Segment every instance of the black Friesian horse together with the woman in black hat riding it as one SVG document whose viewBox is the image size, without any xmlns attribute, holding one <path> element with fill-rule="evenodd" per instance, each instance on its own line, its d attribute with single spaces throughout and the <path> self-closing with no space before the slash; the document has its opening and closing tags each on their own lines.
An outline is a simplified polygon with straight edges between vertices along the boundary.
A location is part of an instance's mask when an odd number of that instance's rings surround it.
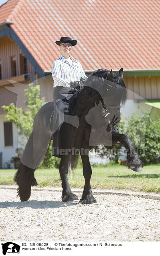
<svg viewBox="0 0 160 256">
<path fill-rule="evenodd" d="M 18 184 L 21 201 L 30 198 L 31 186 L 36 186 L 35 169 L 41 164 L 53 139 L 53 155 L 60 157 L 59 173 L 62 180 L 63 202 L 77 200 L 67 179 L 69 166 L 74 167 L 77 151 L 83 163 L 85 186 L 79 202 L 96 202 L 91 191 L 91 165 L 89 151 L 99 143 L 106 146 L 122 143 L 127 150 L 128 168 L 141 171 L 143 163 L 125 134 L 119 134 L 115 125 L 120 122 L 120 107 L 126 101 L 126 86 L 123 69 L 116 75 L 112 70 L 95 70 L 87 79 L 81 64 L 70 56 L 71 47 L 77 44 L 70 37 L 61 37 L 56 41 L 60 46 L 61 57 L 53 62 L 54 103 L 43 105 L 34 118 L 33 131 L 30 134 L 20 167 L 14 176 Z M 82 78 L 83 87 L 72 87 L 73 81 Z M 54 114 L 53 114 L 54 112 Z M 51 117 L 53 116 L 53 132 Z M 71 125 L 70 125 L 71 124 Z M 61 149 L 58 151 L 57 149 Z M 75 151 L 72 154 L 72 149 Z M 67 150 L 67 151 L 65 151 Z M 67 154 L 68 152 L 69 154 Z M 79 154 L 78 154 L 79 155 Z"/>
</svg>

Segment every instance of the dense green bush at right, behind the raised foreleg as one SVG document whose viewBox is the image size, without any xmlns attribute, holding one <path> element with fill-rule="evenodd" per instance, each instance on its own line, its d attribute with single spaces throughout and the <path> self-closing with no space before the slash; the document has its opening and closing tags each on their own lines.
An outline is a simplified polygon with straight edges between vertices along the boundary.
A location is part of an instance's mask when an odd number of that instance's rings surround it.
<svg viewBox="0 0 160 256">
<path fill-rule="evenodd" d="M 160 157 L 160 116 L 142 109 L 142 116 L 135 112 L 130 118 L 123 117 L 119 129 L 128 135 L 144 164 Z"/>
</svg>

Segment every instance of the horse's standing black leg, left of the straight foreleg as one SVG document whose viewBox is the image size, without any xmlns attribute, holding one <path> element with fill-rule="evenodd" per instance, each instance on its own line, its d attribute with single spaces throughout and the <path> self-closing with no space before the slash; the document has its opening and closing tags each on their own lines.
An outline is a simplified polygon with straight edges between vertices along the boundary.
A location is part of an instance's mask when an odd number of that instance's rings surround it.
<svg viewBox="0 0 160 256">
<path fill-rule="evenodd" d="M 73 201 L 78 200 L 77 196 L 72 193 L 71 188 L 69 186 L 67 174 L 68 174 L 68 161 L 66 161 L 63 157 L 61 157 L 61 162 L 59 165 L 59 173 L 62 180 L 62 201 Z"/>
</svg>

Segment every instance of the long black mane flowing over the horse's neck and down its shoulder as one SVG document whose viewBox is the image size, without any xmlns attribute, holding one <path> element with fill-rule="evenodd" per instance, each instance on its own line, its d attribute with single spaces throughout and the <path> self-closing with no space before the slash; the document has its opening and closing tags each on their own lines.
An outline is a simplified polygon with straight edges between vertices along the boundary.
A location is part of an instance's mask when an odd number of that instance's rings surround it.
<svg viewBox="0 0 160 256">
<path fill-rule="evenodd" d="M 95 70 L 88 77 L 81 90 L 73 95 L 73 102 L 74 100 L 76 102 L 74 112 L 81 121 L 81 127 L 79 129 L 73 127 L 73 131 L 72 129 L 70 131 L 71 138 L 69 138 L 69 141 L 73 142 L 72 147 L 76 147 L 77 149 L 81 147 L 80 143 L 86 126 L 86 109 L 88 109 L 89 105 L 92 108 L 95 103 L 98 104 L 104 91 L 106 93 L 104 95 L 106 99 L 112 98 L 112 105 L 116 105 L 117 102 L 121 102 L 121 104 L 124 105 L 126 102 L 127 92 L 123 78 L 103 68 Z M 71 157 L 72 166 L 75 165 L 76 159 L 77 156 Z"/>
</svg>

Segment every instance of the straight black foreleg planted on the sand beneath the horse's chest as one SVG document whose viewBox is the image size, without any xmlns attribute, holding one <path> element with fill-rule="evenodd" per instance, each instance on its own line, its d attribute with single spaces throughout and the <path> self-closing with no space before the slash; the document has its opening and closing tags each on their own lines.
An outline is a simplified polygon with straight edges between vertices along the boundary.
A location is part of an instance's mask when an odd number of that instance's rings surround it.
<svg viewBox="0 0 160 256">
<path fill-rule="evenodd" d="M 89 156 L 88 155 L 81 155 L 82 163 L 83 163 L 83 176 L 85 178 L 85 186 L 82 194 L 82 198 L 79 202 L 82 204 L 92 204 L 93 202 L 96 202 L 96 199 L 94 198 L 91 190 L 91 175 L 92 175 L 92 169 L 89 162 Z"/>
</svg>

